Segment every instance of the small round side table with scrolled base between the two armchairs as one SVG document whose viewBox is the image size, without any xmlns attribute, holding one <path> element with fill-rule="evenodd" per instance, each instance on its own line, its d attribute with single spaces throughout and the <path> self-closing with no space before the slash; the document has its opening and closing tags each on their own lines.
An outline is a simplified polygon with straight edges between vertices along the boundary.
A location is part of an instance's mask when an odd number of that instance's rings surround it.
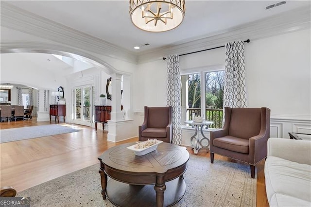
<svg viewBox="0 0 311 207">
<path fill-rule="evenodd" d="M 202 122 L 195 122 L 195 121 L 185 121 L 185 123 L 195 128 L 195 133 L 191 137 L 191 147 L 193 148 L 194 155 L 197 155 L 199 150 L 202 148 L 208 149 L 209 146 L 209 138 L 205 137 L 203 133 L 203 128 L 206 129 L 210 124 L 213 124 L 213 121 L 202 121 Z M 202 138 L 200 138 L 199 132 L 201 132 Z M 204 144 L 204 142 L 207 142 Z"/>
</svg>

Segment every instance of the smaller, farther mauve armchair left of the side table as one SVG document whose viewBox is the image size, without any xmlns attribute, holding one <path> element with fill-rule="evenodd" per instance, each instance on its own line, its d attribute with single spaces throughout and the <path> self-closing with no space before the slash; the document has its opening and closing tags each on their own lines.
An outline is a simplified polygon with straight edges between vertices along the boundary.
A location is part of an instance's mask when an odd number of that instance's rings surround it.
<svg viewBox="0 0 311 207">
<path fill-rule="evenodd" d="M 146 141 L 158 139 L 171 143 L 173 137 L 172 106 L 148 107 L 145 106 L 145 118 L 138 126 L 138 140 Z"/>
</svg>

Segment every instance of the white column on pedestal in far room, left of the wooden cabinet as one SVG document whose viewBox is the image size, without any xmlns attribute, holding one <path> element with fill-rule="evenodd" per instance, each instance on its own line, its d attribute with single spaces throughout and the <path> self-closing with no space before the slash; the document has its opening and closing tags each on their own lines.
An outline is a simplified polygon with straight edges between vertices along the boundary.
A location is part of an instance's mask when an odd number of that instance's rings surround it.
<svg viewBox="0 0 311 207">
<path fill-rule="evenodd" d="M 49 90 L 38 90 L 38 112 L 37 121 L 50 120 L 50 106 L 49 106 Z"/>
</svg>

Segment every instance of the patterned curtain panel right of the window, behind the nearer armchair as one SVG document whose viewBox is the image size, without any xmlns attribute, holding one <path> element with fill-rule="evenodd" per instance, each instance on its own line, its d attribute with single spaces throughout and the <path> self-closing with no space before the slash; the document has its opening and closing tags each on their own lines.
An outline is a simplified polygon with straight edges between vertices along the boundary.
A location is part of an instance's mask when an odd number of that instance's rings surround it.
<svg viewBox="0 0 311 207">
<path fill-rule="evenodd" d="M 225 45 L 224 108 L 247 107 L 244 59 L 243 41 Z"/>
</svg>

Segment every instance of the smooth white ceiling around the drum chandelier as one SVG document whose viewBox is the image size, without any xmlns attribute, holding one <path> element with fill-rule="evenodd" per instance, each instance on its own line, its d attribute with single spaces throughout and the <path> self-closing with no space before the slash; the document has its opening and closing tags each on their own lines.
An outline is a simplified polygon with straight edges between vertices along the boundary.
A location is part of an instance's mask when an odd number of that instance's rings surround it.
<svg viewBox="0 0 311 207">
<path fill-rule="evenodd" d="M 186 0 L 184 21 L 179 27 L 164 33 L 150 33 L 132 24 L 129 0 L 6 1 L 136 53 L 208 37 L 232 27 L 311 5 L 311 1 L 287 1 L 284 5 L 265 10 L 265 6 L 276 2 L 279 1 Z M 133 48 L 145 43 L 150 46 L 142 47 L 139 51 Z"/>
</svg>

